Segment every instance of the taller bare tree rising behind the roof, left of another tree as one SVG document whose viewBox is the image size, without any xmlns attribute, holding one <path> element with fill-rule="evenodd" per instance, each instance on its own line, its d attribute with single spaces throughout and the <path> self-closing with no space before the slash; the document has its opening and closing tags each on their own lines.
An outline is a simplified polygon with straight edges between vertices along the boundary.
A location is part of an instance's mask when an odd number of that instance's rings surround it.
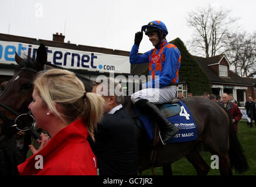
<svg viewBox="0 0 256 187">
<path fill-rule="evenodd" d="M 216 56 L 225 49 L 227 34 L 230 33 L 236 19 L 229 17 L 230 11 L 218 11 L 209 7 L 188 13 L 187 23 L 194 28 L 193 39 L 189 41 L 190 50 L 207 57 Z"/>
</svg>

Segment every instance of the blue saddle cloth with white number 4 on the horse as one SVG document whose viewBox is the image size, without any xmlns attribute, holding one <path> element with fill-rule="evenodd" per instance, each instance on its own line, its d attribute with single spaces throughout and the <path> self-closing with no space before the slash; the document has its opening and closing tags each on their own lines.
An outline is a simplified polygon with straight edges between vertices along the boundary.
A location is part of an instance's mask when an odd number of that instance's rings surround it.
<svg viewBox="0 0 256 187">
<path fill-rule="evenodd" d="M 156 105 L 159 110 L 165 115 L 169 122 L 175 124 L 179 129 L 179 132 L 168 142 L 185 142 L 197 140 L 197 127 L 194 122 L 193 116 L 189 109 L 182 101 L 177 101 L 176 103 L 165 103 L 161 105 Z M 138 116 L 141 126 L 144 127 L 146 133 L 150 140 L 154 138 L 155 124 L 146 115 L 139 115 L 141 112 L 135 106 L 135 114 Z M 135 120 L 138 126 L 138 121 Z"/>
</svg>

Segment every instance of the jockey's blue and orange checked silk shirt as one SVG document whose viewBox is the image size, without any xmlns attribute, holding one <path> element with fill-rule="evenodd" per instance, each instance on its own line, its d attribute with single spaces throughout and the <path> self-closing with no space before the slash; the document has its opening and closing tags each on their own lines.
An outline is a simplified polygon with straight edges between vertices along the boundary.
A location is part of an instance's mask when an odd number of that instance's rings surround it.
<svg viewBox="0 0 256 187">
<path fill-rule="evenodd" d="M 179 82 L 180 51 L 178 47 L 164 40 L 155 49 L 144 54 L 138 54 L 139 46 L 132 46 L 129 60 L 131 64 L 149 63 L 149 75 L 151 81 L 146 82 L 146 88 L 155 88 L 155 82 L 159 82 L 159 88 L 170 83 Z M 158 77 L 155 76 L 158 75 Z"/>
</svg>

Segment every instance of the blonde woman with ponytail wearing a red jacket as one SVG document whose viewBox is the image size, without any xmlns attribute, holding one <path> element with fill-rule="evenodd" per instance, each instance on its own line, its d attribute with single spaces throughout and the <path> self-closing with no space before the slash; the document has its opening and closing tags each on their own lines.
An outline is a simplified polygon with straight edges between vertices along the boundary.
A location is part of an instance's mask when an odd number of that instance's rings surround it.
<svg viewBox="0 0 256 187">
<path fill-rule="evenodd" d="M 29 109 L 41 134 L 38 150 L 18 165 L 20 175 L 97 175 L 97 162 L 87 141 L 103 114 L 104 99 L 86 93 L 73 72 L 53 69 L 37 75 Z"/>
</svg>

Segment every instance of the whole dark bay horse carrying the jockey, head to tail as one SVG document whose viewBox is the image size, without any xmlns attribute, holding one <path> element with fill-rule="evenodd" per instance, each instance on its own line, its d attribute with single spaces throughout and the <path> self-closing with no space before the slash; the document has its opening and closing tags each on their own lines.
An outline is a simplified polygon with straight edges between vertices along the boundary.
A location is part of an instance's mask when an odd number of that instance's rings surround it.
<svg viewBox="0 0 256 187">
<path fill-rule="evenodd" d="M 8 118 L 15 117 L 17 113 L 28 112 L 28 105 L 33 91 L 32 81 L 37 72 L 43 70 L 43 66 L 47 61 L 47 51 L 45 46 L 41 44 L 37 49 L 36 61 L 24 61 L 17 54 L 15 59 L 19 64 L 18 70 L 5 86 L 5 90 L 0 96 L 0 103 L 11 109 L 0 107 L 0 112 L 4 113 Z M 86 85 L 86 91 L 90 92 L 94 85 L 93 81 L 87 80 L 83 82 Z M 183 99 L 183 102 L 189 108 L 197 124 L 199 140 L 158 146 L 158 154 L 153 167 L 168 167 L 168 165 L 185 156 L 193 164 L 197 174 L 206 175 L 209 172 L 209 166 L 197 151 L 197 143 L 203 141 L 210 153 L 219 157 L 221 175 L 231 175 L 232 167 L 238 172 L 246 171 L 248 164 L 227 113 L 217 103 L 211 102 L 210 99 L 193 97 Z M 129 97 L 126 98 L 125 106 L 133 115 L 134 108 Z M 2 129 L 3 123 L 4 120 L 1 120 L 0 129 Z M 6 126 L 6 124 L 4 125 Z M 136 133 L 139 144 L 139 171 L 142 171 L 151 167 L 150 155 L 152 146 L 145 130 L 137 129 Z M 3 133 L 0 133 L 0 136 L 2 135 Z"/>
</svg>

